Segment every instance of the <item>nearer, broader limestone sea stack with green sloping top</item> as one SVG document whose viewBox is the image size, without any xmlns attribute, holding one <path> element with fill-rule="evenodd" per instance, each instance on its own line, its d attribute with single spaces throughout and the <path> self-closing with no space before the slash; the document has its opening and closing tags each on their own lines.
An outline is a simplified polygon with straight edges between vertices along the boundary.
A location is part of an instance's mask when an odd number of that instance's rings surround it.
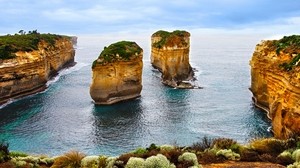
<svg viewBox="0 0 300 168">
<path fill-rule="evenodd" d="M 113 104 L 140 96 L 143 50 L 135 42 L 104 47 L 92 66 L 90 94 L 95 104 Z"/>
</svg>

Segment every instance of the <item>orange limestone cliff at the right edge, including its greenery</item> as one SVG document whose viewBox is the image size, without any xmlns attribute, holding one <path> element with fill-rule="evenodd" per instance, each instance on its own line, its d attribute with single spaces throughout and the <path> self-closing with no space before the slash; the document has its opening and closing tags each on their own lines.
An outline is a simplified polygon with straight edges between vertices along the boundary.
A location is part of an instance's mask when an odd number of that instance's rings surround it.
<svg viewBox="0 0 300 168">
<path fill-rule="evenodd" d="M 258 107 L 268 112 L 274 136 L 300 135 L 300 36 L 262 41 L 251 65 L 251 91 Z"/>
</svg>

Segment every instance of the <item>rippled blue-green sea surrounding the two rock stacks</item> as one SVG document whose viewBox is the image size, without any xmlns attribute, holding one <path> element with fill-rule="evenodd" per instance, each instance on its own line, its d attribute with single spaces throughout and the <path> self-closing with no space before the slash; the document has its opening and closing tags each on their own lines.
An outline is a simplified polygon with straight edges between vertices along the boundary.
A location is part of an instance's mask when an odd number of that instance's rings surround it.
<svg viewBox="0 0 300 168">
<path fill-rule="evenodd" d="M 79 36 L 74 67 L 48 89 L 0 107 L 0 140 L 10 150 L 50 156 L 79 150 L 116 156 L 155 144 L 191 145 L 202 137 L 247 143 L 269 137 L 266 114 L 251 100 L 249 60 L 261 40 L 253 35 L 193 35 L 190 63 L 203 89 L 161 84 L 150 64 L 150 36 Z M 104 46 L 136 41 L 144 49 L 141 97 L 97 106 L 89 95 L 91 64 Z"/>
</svg>

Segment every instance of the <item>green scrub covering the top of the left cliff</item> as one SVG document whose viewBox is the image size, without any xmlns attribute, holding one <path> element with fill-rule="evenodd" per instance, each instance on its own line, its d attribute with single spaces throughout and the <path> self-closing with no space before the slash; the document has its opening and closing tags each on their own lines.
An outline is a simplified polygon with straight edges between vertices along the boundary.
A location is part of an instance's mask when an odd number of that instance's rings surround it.
<svg viewBox="0 0 300 168">
<path fill-rule="evenodd" d="M 18 51 L 33 51 L 38 49 L 38 44 L 44 41 L 51 46 L 55 45 L 55 41 L 60 39 L 61 35 L 56 34 L 40 34 L 37 30 L 29 31 L 23 30 L 19 34 L 0 36 L 0 59 L 11 59 L 15 57 Z"/>
</svg>

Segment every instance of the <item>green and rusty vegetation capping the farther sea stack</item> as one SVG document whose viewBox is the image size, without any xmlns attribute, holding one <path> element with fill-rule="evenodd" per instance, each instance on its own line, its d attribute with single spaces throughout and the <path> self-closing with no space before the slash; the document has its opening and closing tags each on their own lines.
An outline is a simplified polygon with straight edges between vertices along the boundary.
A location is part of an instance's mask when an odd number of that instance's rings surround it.
<svg viewBox="0 0 300 168">
<path fill-rule="evenodd" d="M 184 37 L 190 37 L 190 33 L 183 30 L 175 30 L 173 32 L 167 32 L 159 30 L 155 32 L 152 37 L 161 37 L 160 41 L 152 44 L 155 48 L 162 48 L 163 46 L 185 46 L 187 45 Z"/>
</svg>

